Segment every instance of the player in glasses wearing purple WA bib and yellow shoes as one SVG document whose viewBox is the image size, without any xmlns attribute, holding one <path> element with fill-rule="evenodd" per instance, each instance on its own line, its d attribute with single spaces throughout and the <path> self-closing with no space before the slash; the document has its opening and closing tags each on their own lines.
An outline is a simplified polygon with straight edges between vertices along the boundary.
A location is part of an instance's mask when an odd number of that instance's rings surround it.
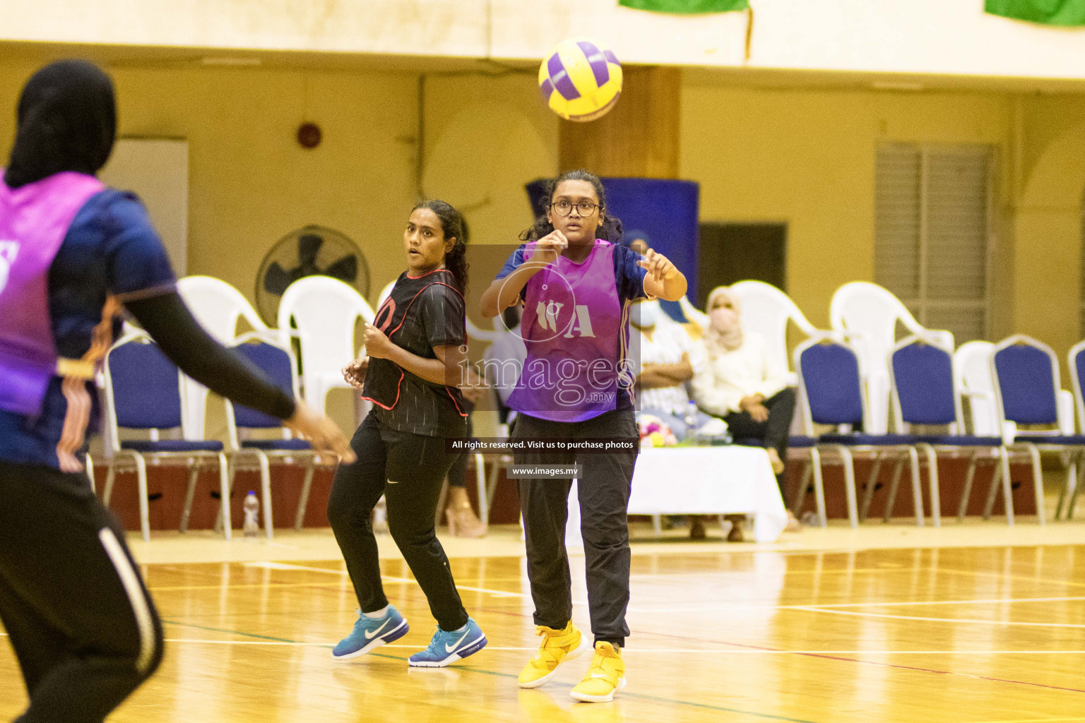
<svg viewBox="0 0 1085 723">
<path fill-rule="evenodd" d="M 634 440 L 608 453 L 518 452 L 518 465 L 577 464 L 580 530 L 595 656 L 571 692 L 576 700 L 612 700 L 625 687 L 622 647 L 629 634 L 629 528 L 626 514 L 637 461 L 633 376 L 623 373 L 634 299 L 677 300 L 686 277 L 652 250 L 641 256 L 617 243 L 621 222 L 605 212 L 603 184 L 574 170 L 547 189 L 547 214 L 521 234 L 520 246 L 482 297 L 494 318 L 523 302 L 520 333 L 527 347 L 523 373 L 508 405 L 516 411 L 513 440 L 591 438 Z M 575 211 L 575 212 L 574 212 Z M 550 370 L 549 379 L 546 377 Z M 519 684 L 538 687 L 558 666 L 591 647 L 573 624 L 565 522 L 572 478 L 520 479 L 527 576 L 542 644 Z"/>
</svg>

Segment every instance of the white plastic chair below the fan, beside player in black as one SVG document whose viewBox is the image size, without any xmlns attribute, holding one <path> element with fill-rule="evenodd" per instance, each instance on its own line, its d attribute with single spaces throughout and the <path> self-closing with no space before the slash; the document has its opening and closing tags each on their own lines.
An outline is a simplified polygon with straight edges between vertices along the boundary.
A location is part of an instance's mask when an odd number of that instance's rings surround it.
<svg viewBox="0 0 1085 723">
<path fill-rule="evenodd" d="M 352 388 L 341 370 L 355 359 L 358 318 L 372 323 L 373 315 L 361 294 L 331 276 L 298 279 L 283 293 L 279 333 L 288 346 L 292 336 L 301 343 L 305 401 L 314 409 L 324 410 L 329 390 Z"/>
</svg>

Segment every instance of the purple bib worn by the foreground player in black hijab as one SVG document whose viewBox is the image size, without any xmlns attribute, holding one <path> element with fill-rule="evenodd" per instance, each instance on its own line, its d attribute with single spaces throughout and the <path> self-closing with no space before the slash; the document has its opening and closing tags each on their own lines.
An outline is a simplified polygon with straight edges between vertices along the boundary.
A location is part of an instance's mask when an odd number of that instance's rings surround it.
<svg viewBox="0 0 1085 723">
<path fill-rule="evenodd" d="M 75 215 L 104 188 L 73 171 L 18 189 L 0 183 L 0 409 L 41 413 L 58 361 L 49 268 Z"/>
</svg>

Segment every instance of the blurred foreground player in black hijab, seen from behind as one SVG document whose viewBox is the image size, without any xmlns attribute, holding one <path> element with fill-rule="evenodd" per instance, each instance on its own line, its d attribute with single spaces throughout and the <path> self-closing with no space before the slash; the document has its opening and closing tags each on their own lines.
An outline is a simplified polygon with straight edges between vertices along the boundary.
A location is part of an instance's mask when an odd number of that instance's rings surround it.
<svg viewBox="0 0 1085 723">
<path fill-rule="evenodd" d="M 81 461 L 118 305 L 192 378 L 353 459 L 330 419 L 189 313 L 142 205 L 94 178 L 115 129 L 107 75 L 47 65 L 23 88 L 0 183 L 0 619 L 30 699 L 21 723 L 99 723 L 162 659 L 154 604 Z"/>
</svg>

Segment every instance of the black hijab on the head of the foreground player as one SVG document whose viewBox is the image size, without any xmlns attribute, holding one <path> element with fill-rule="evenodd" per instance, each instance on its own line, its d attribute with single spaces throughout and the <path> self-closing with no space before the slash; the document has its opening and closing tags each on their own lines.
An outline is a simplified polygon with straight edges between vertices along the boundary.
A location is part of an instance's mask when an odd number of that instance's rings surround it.
<svg viewBox="0 0 1085 723">
<path fill-rule="evenodd" d="M 113 81 L 87 61 L 58 61 L 26 81 L 4 172 L 13 189 L 65 170 L 93 176 L 113 151 Z"/>
</svg>

